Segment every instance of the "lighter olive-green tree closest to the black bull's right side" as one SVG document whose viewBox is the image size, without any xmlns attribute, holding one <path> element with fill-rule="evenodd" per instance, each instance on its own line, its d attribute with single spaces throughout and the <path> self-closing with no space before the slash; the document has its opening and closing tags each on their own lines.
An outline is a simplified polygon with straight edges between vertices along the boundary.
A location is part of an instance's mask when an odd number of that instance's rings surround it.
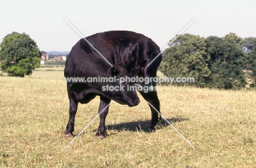
<svg viewBox="0 0 256 168">
<path fill-rule="evenodd" d="M 162 55 L 160 71 L 164 75 L 194 77 L 194 85 L 200 87 L 206 85 L 211 71 L 207 65 L 205 38 L 191 34 L 179 35 Z"/>
</svg>

